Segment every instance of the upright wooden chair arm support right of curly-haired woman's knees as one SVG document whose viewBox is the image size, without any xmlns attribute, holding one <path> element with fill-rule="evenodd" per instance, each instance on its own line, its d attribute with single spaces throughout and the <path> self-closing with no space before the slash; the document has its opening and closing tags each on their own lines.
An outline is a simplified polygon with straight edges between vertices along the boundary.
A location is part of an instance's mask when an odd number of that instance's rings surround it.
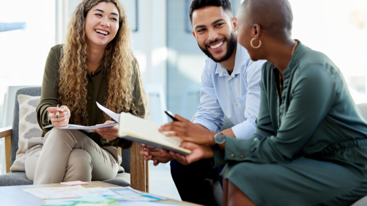
<svg viewBox="0 0 367 206">
<path fill-rule="evenodd" d="M 141 149 L 137 142 L 130 147 L 130 185 L 136 190 L 148 192 L 148 161 L 140 155 Z"/>
</svg>

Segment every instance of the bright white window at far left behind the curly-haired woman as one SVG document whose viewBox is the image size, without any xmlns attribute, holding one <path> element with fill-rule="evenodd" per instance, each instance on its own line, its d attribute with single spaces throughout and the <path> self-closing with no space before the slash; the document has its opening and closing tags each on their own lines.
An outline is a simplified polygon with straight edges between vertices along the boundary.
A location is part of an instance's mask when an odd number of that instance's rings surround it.
<svg viewBox="0 0 367 206">
<path fill-rule="evenodd" d="M 55 1 L 0 0 L 0 8 L 0 126 L 5 126 L 8 86 L 42 84 L 48 51 L 55 45 Z M 5 173 L 1 144 L 0 174 Z"/>
</svg>

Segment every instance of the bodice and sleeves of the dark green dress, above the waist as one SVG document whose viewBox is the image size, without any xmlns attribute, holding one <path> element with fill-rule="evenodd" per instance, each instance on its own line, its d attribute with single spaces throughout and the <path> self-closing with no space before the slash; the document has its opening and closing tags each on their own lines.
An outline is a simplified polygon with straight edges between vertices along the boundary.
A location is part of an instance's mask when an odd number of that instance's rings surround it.
<svg viewBox="0 0 367 206">
<path fill-rule="evenodd" d="M 284 70 L 263 65 L 257 129 L 249 139 L 226 137 L 216 166 L 228 162 L 285 163 L 304 156 L 345 164 L 366 163 L 367 123 L 343 75 L 324 54 L 299 43 Z"/>
</svg>

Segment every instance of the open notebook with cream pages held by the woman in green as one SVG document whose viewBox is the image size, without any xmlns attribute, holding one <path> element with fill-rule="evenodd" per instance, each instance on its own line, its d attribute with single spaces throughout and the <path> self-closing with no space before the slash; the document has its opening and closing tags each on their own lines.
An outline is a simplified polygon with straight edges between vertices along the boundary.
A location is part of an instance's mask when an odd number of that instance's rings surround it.
<svg viewBox="0 0 367 206">
<path fill-rule="evenodd" d="M 191 153 L 190 150 L 179 147 L 181 144 L 180 138 L 166 137 L 158 131 L 159 127 L 159 124 L 123 112 L 120 114 L 118 137 L 156 148 L 175 151 L 182 155 Z"/>
</svg>

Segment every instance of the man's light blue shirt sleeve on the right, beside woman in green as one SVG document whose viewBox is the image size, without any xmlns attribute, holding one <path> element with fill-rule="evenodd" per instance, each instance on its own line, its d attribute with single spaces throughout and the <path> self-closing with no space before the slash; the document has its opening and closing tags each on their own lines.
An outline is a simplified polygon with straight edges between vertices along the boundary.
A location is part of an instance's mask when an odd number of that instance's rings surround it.
<svg viewBox="0 0 367 206">
<path fill-rule="evenodd" d="M 256 118 L 259 111 L 260 102 L 260 79 L 261 65 L 264 61 L 252 62 L 246 69 L 244 78 L 247 82 L 245 101 L 245 121 L 234 125 L 232 131 L 236 138 L 248 139 L 256 129 Z"/>
</svg>

